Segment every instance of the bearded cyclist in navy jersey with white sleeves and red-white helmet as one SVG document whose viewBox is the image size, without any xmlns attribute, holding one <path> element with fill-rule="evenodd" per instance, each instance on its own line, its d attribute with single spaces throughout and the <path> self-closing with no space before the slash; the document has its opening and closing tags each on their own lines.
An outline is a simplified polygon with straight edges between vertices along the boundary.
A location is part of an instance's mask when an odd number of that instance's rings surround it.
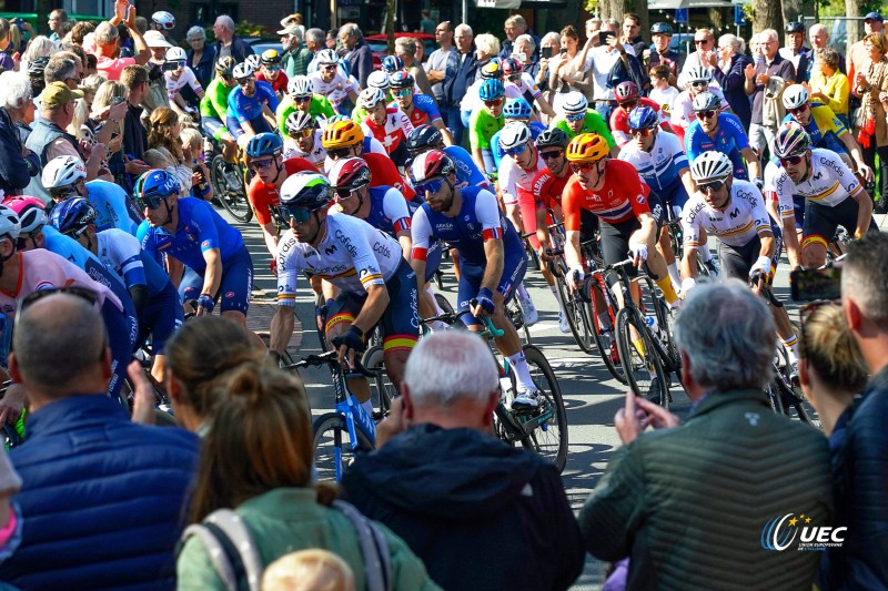
<svg viewBox="0 0 888 591">
<path fill-rule="evenodd" d="M 411 174 L 425 198 L 413 214 L 412 264 L 416 276 L 425 277 L 425 258 L 432 238 L 460 249 L 457 310 L 471 306 L 472 314 L 462 318 L 472 330 L 481 330 L 478 319 L 483 316 L 504 330 L 496 346 L 517 378 L 512 409 L 533 410 L 538 406 L 538 389 L 531 377 L 515 326 L 505 315 L 505 304 L 527 268 L 521 237 L 503 216 L 493 193 L 477 186 L 456 186 L 455 166 L 443 152 L 432 150 L 417 156 L 411 164 Z M 472 305 L 472 300 L 476 304 Z"/>
</svg>

